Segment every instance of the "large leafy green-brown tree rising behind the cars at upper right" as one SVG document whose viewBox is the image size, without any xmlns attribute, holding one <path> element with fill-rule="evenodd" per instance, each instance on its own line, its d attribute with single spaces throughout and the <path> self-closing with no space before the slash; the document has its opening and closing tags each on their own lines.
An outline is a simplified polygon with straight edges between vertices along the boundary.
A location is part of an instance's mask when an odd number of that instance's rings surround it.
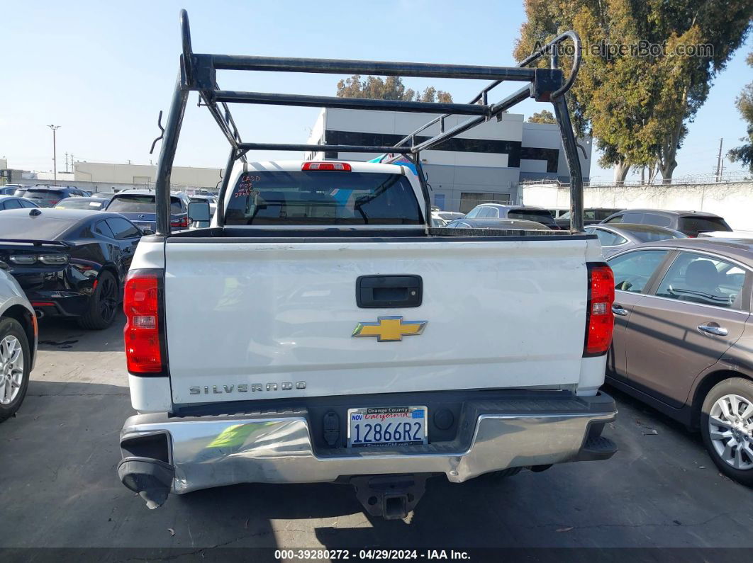
<svg viewBox="0 0 753 563">
<path fill-rule="evenodd" d="M 578 133 L 596 138 L 600 164 L 614 165 L 621 182 L 631 166 L 657 162 L 669 182 L 687 123 L 751 29 L 753 0 L 526 0 L 526 14 L 518 60 L 566 29 L 581 35 L 569 101 Z M 560 61 L 568 68 L 572 56 Z"/>
</svg>

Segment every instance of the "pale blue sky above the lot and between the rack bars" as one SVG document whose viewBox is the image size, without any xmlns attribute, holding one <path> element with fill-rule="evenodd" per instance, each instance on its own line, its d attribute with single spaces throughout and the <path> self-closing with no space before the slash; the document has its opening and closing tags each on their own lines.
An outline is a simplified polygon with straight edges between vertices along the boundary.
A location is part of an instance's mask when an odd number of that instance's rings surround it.
<svg viewBox="0 0 753 563">
<path fill-rule="evenodd" d="M 5 5 L 5 6 L 2 6 Z M 52 171 L 56 132 L 58 170 L 66 153 L 89 162 L 157 162 L 157 114 L 167 110 L 181 39 L 178 11 L 191 19 L 195 53 L 376 59 L 470 65 L 514 65 L 512 51 L 522 2 L 489 2 L 483 12 L 468 2 L 382 0 L 382 2 L 11 2 L 0 0 L 0 159 L 11 168 Z M 745 65 L 753 38 L 715 80 L 678 153 L 675 178 L 715 171 L 719 139 L 724 152 L 745 135 L 734 101 L 753 69 Z M 334 95 L 341 76 L 331 74 L 220 71 L 223 89 Z M 436 86 L 465 102 L 483 86 L 478 80 L 405 78 L 406 86 Z M 519 84 L 495 89 L 497 101 Z M 512 110 L 528 117 L 542 104 L 526 101 Z M 549 104 L 544 107 L 550 109 Z M 248 142 L 305 143 L 317 108 L 236 106 Z M 163 122 L 164 123 L 164 122 Z M 206 108 L 189 98 L 175 165 L 221 168 L 227 141 Z M 258 160 L 284 153 L 258 153 Z M 289 154 L 288 154 L 289 157 Z M 598 155 L 596 155 L 598 158 Z M 591 163 L 592 180 L 611 170 Z M 742 166 L 725 159 L 725 171 Z"/>
</svg>

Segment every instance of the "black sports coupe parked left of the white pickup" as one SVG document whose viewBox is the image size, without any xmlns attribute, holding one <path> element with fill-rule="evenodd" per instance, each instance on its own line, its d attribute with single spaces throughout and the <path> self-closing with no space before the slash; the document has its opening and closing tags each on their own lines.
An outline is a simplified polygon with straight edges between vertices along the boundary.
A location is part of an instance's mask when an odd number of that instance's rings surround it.
<svg viewBox="0 0 753 563">
<path fill-rule="evenodd" d="M 37 316 L 67 316 L 107 328 L 142 232 L 117 213 L 14 209 L 0 220 L 0 266 L 16 278 Z"/>
</svg>

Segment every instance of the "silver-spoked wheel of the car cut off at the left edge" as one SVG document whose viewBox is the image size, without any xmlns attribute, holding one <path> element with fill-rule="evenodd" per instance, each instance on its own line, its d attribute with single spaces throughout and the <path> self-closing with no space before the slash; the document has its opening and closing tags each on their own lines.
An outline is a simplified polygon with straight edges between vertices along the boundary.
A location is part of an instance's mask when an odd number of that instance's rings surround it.
<svg viewBox="0 0 753 563">
<path fill-rule="evenodd" d="M 32 355 L 16 319 L 0 319 L 0 422 L 13 416 L 26 396 Z"/>
</svg>

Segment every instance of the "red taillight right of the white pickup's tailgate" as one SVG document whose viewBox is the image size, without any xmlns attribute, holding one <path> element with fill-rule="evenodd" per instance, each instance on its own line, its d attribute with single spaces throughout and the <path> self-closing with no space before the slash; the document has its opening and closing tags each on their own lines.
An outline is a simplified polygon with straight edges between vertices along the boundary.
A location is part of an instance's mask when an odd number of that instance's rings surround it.
<svg viewBox="0 0 753 563">
<path fill-rule="evenodd" d="M 602 356 L 609 350 L 614 316 L 614 274 L 608 265 L 590 263 L 588 266 L 588 308 L 586 310 L 586 341 L 583 356 Z"/>
</svg>

